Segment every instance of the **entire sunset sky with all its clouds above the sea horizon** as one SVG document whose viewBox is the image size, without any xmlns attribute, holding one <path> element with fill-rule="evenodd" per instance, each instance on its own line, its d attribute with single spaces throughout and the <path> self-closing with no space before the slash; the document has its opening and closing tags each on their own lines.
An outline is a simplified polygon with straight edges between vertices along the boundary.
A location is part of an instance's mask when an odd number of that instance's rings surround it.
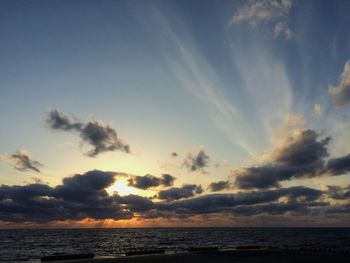
<svg viewBox="0 0 350 263">
<path fill-rule="evenodd" d="M 0 2 L 0 228 L 350 226 L 349 1 Z"/>
</svg>

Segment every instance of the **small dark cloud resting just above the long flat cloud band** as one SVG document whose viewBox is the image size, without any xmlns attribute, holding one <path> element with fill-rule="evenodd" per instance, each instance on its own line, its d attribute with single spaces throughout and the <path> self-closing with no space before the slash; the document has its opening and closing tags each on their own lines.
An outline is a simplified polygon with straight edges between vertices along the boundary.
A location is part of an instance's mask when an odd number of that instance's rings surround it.
<svg viewBox="0 0 350 263">
<path fill-rule="evenodd" d="M 197 194 L 201 194 L 203 189 L 200 185 L 185 184 L 182 187 L 173 187 L 167 190 L 162 190 L 158 193 L 158 199 L 173 201 L 182 198 L 193 197 Z"/>
</svg>

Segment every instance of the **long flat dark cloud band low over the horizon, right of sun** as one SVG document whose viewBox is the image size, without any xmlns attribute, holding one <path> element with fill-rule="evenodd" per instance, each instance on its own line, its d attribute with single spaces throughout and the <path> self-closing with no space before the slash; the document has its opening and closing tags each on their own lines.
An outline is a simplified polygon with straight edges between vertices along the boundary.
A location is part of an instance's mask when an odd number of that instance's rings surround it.
<svg viewBox="0 0 350 263">
<path fill-rule="evenodd" d="M 287 211 L 315 207 L 323 192 L 297 186 L 276 190 L 241 192 L 237 194 L 211 194 L 190 199 L 160 203 L 160 211 L 171 211 L 181 216 L 207 213 L 232 213 L 234 215 L 252 215 L 259 213 L 283 214 Z M 278 202 L 280 198 L 285 202 Z M 323 205 L 320 203 L 320 205 Z"/>
</svg>

